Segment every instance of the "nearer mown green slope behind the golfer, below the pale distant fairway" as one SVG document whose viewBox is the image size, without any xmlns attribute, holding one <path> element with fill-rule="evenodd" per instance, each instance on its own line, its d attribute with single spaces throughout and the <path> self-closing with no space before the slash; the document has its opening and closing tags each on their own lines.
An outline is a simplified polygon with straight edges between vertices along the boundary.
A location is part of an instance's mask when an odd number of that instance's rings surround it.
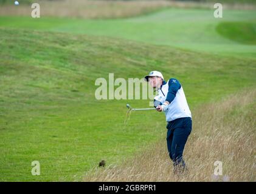
<svg viewBox="0 0 256 194">
<path fill-rule="evenodd" d="M 109 72 L 127 79 L 161 70 L 184 84 L 192 109 L 256 83 L 255 60 L 66 33 L 1 28 L 0 36 L 2 181 L 80 180 L 100 159 L 120 161 L 165 133 L 161 113 L 143 122 L 133 113 L 123 125 L 126 102 L 148 101 L 95 101 L 94 81 Z M 31 175 L 33 160 L 41 176 Z"/>
</svg>

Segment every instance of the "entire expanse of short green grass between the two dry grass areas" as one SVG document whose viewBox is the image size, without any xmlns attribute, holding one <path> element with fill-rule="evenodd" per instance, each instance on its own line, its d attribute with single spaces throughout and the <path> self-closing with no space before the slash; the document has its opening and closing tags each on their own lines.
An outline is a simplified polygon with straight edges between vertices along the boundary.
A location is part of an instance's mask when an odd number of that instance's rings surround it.
<svg viewBox="0 0 256 194">
<path fill-rule="evenodd" d="M 157 141 L 166 132 L 164 114 L 133 112 L 123 124 L 126 103 L 148 107 L 150 100 L 95 99 L 95 79 L 108 73 L 128 80 L 159 70 L 177 78 L 192 114 L 255 87 L 254 31 L 242 32 L 243 41 L 227 38 L 224 21 L 229 29 L 232 22 L 255 27 L 256 15 L 227 10 L 219 20 L 212 10 L 170 9 L 95 21 L 1 16 L 0 180 L 81 181 L 100 160 L 116 164 Z M 40 162 L 40 176 L 31 175 L 32 161 Z"/>
</svg>

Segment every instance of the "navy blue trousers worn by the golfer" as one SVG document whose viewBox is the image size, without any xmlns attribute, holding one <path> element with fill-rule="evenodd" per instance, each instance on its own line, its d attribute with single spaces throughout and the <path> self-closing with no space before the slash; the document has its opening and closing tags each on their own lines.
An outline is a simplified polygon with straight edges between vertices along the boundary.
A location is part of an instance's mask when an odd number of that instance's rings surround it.
<svg viewBox="0 0 256 194">
<path fill-rule="evenodd" d="M 175 119 L 168 122 L 166 128 L 168 129 L 166 138 L 167 148 L 175 171 L 185 170 L 182 154 L 187 138 L 192 130 L 192 119 L 190 117 Z"/>
</svg>

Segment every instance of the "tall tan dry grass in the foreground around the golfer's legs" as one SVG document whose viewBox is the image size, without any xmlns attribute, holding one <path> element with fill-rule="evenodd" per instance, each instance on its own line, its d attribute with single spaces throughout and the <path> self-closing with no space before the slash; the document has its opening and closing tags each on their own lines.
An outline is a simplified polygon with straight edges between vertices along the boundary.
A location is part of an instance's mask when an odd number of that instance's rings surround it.
<svg viewBox="0 0 256 194">
<path fill-rule="evenodd" d="M 256 181 L 256 90 L 232 95 L 193 112 L 193 129 L 185 146 L 189 172 L 173 174 L 165 136 L 120 165 L 95 167 L 84 181 Z M 214 162 L 223 175 L 214 175 Z M 106 161 L 107 162 L 107 161 Z"/>
</svg>

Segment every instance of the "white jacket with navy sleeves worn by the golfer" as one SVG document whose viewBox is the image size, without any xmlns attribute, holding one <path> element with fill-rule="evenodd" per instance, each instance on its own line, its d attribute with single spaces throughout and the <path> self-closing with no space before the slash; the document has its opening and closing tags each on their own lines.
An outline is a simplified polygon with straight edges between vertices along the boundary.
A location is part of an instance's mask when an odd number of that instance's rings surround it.
<svg viewBox="0 0 256 194">
<path fill-rule="evenodd" d="M 184 117 L 192 118 L 184 91 L 177 79 L 171 78 L 167 82 L 163 81 L 161 88 L 157 92 L 158 95 L 154 97 L 154 107 L 164 104 L 165 101 L 170 102 L 164 112 L 166 121 Z"/>
</svg>

